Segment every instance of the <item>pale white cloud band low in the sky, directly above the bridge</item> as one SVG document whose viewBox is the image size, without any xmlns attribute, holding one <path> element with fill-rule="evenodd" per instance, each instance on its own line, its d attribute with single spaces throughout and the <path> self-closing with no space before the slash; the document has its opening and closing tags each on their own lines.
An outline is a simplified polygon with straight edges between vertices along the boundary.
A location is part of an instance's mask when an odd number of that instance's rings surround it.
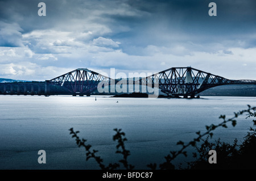
<svg viewBox="0 0 256 181">
<path fill-rule="evenodd" d="M 150 56 L 131 56 L 121 50 L 85 52 L 82 54 L 80 52 L 82 49 L 79 50 L 80 53 L 76 56 L 73 56 L 73 54 L 34 54 L 32 57 L 37 60 L 34 63 L 32 63 L 33 59 L 28 59 L 31 60 L 29 62 L 23 60 L 23 57 L 13 57 L 14 60 L 9 64 L 6 64 L 6 61 L 2 61 L 2 63 L 0 61 L 0 72 L 1 77 L 6 78 L 44 80 L 57 77 L 76 68 L 88 68 L 94 71 L 101 70 L 102 72 L 108 72 L 110 68 L 115 68 L 116 73 L 122 71 L 128 74 L 130 72 L 156 73 L 177 66 L 192 66 L 225 78 L 256 79 L 253 74 L 256 70 L 256 61 L 254 61 L 256 48 L 228 49 L 233 54 L 225 54 L 225 56 L 222 51 L 216 53 L 193 52 L 193 54 L 180 56 L 162 53 L 164 51 L 160 48 L 159 50 L 160 52 Z M 15 52 L 17 54 L 21 52 L 21 49 L 16 48 Z M 6 57 L 6 55 L 2 57 Z M 71 59 L 72 61 L 70 61 Z M 48 63 L 44 64 L 45 61 Z M 60 64 L 67 65 L 67 68 L 58 68 Z"/>
</svg>

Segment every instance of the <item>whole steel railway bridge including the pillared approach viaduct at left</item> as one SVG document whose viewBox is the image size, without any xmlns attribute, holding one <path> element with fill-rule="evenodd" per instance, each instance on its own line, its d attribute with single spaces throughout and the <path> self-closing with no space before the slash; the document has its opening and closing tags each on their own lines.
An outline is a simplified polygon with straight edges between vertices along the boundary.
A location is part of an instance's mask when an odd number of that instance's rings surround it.
<svg viewBox="0 0 256 181">
<path fill-rule="evenodd" d="M 144 78 L 125 79 L 122 85 L 146 85 L 158 87 L 170 97 L 183 96 L 195 98 L 197 94 L 221 85 L 256 85 L 254 80 L 233 80 L 220 77 L 191 67 L 170 68 Z M 129 80 L 129 81 L 128 81 Z M 42 82 L 6 82 L 0 83 L 3 95 L 86 95 L 97 90 L 98 83 L 116 85 L 120 79 L 112 79 L 88 69 L 76 69 L 59 77 Z"/>
</svg>

